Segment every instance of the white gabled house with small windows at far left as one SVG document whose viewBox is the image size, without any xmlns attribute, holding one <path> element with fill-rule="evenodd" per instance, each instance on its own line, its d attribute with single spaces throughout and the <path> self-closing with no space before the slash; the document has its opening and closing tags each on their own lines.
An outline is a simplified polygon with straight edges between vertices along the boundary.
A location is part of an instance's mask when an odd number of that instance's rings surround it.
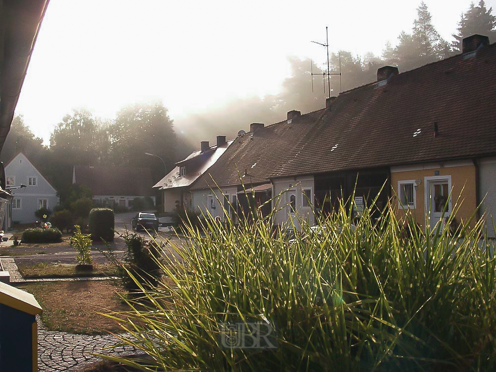
<svg viewBox="0 0 496 372">
<path fill-rule="evenodd" d="M 17 153 L 5 166 L 5 180 L 12 201 L 7 210 L 7 228 L 11 222 L 32 223 L 38 220 L 34 212 L 59 204 L 54 186 L 41 174 L 22 152 Z M 26 187 L 19 187 L 25 185 Z"/>
</svg>

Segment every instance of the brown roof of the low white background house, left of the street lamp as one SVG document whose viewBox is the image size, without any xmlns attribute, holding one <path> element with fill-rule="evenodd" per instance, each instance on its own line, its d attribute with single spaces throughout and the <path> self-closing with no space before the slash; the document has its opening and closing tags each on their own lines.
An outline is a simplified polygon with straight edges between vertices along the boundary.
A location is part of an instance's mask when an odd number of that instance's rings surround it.
<svg viewBox="0 0 496 372">
<path fill-rule="evenodd" d="M 149 168 L 75 166 L 76 184 L 93 195 L 153 196 Z"/>
</svg>

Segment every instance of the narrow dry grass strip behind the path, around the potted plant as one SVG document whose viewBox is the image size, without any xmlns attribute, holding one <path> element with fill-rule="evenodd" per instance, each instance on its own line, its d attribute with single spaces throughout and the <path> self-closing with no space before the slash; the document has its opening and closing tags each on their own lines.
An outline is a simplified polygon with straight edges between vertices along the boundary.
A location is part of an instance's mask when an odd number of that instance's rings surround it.
<svg viewBox="0 0 496 372">
<path fill-rule="evenodd" d="M 116 274 L 115 267 L 109 263 L 94 264 L 92 271 L 76 271 L 76 266 L 71 263 L 45 262 L 19 265 L 18 269 L 24 279 L 114 276 Z"/>
</svg>

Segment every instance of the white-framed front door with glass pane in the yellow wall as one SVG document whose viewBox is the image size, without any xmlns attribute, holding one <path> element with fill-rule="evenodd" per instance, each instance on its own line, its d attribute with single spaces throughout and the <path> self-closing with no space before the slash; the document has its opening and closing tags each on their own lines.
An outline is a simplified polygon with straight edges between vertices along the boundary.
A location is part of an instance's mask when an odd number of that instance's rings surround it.
<svg viewBox="0 0 496 372">
<path fill-rule="evenodd" d="M 426 218 L 429 219 L 431 231 L 441 217 L 443 219 L 441 227 L 444 226 L 451 213 L 450 189 L 451 177 L 426 177 Z"/>
</svg>

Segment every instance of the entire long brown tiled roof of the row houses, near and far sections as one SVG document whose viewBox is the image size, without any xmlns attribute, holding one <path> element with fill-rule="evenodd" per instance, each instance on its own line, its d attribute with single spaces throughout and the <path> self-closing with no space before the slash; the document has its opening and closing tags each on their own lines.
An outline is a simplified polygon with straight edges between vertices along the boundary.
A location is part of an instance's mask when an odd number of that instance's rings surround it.
<svg viewBox="0 0 496 372">
<path fill-rule="evenodd" d="M 238 137 L 192 188 L 496 154 L 496 44 L 341 93 L 322 109 Z M 438 135 L 434 137 L 434 123 Z M 254 166 L 253 166 L 254 165 Z M 252 167 L 253 166 L 253 167 Z M 250 181 L 248 181 L 250 182 Z"/>
</svg>

